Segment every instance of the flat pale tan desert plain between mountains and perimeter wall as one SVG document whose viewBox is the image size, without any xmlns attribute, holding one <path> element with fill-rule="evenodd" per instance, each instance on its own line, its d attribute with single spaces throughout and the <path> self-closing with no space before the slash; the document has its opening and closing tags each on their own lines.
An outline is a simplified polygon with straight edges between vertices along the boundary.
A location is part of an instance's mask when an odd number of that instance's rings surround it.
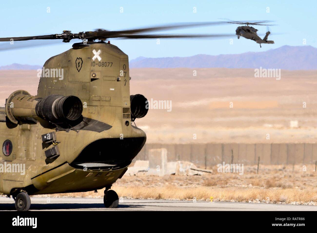
<svg viewBox="0 0 317 233">
<path fill-rule="evenodd" d="M 0 106 L 17 89 L 35 95 L 36 74 L 1 70 Z M 317 72 L 281 70 L 280 80 L 254 74 L 254 69 L 130 69 L 131 94 L 171 101 L 171 111 L 150 109 L 136 125 L 147 143 L 315 143 Z"/>
</svg>

